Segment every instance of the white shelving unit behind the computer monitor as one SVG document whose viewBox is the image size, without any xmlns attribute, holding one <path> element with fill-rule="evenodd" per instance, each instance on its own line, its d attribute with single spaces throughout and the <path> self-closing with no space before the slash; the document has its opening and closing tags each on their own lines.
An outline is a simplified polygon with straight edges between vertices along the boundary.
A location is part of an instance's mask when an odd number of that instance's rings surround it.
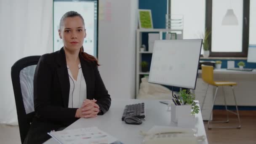
<svg viewBox="0 0 256 144">
<path fill-rule="evenodd" d="M 178 39 L 182 39 L 183 30 L 174 30 L 174 29 L 137 29 L 136 30 L 136 96 L 139 94 L 139 85 L 140 78 L 142 75 L 149 75 L 149 72 L 141 72 L 141 57 L 143 53 L 152 53 L 149 51 L 140 51 L 142 45 L 142 33 L 143 32 L 154 32 L 159 33 L 159 40 L 163 40 L 163 33 L 172 32 L 177 34 Z"/>
</svg>

